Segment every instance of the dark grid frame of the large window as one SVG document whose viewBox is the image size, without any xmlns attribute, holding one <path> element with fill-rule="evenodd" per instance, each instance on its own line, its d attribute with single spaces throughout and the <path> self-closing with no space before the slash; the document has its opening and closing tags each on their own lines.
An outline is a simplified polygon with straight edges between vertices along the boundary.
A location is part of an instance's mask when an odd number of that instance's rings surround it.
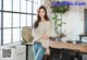
<svg viewBox="0 0 87 60">
<path fill-rule="evenodd" d="M 32 10 L 32 12 L 27 12 L 27 2 L 32 2 L 32 8 L 30 8 L 30 10 Z M 21 12 L 21 0 L 20 0 L 20 11 L 14 11 L 13 10 L 13 0 L 12 0 L 12 8 L 11 8 L 11 11 L 9 11 L 9 10 L 3 10 L 3 0 L 1 0 L 1 10 L 0 10 L 0 13 L 1 13 L 1 27 L 0 27 L 0 29 L 1 29 L 1 45 L 7 45 L 7 44 L 3 44 L 3 31 L 4 29 L 11 29 L 11 43 L 9 43 L 9 44 L 12 44 L 12 43 L 15 43 L 15 41 L 13 41 L 13 29 L 14 28 L 17 28 L 17 29 L 20 29 L 20 40 L 21 40 L 21 29 L 22 29 L 22 27 L 23 26 L 21 26 L 21 14 L 25 14 L 26 15 L 26 25 L 25 26 L 27 26 L 27 16 L 28 15 L 30 15 L 32 16 L 32 25 L 30 25 L 30 27 L 33 28 L 33 20 L 34 20 L 34 15 L 37 15 L 36 13 L 33 13 L 33 10 L 34 10 L 34 0 L 32 0 L 32 1 L 28 1 L 28 0 L 26 0 L 26 12 Z M 38 5 L 39 3 L 37 2 L 37 5 Z M 42 4 L 42 2 L 40 3 L 40 4 Z M 37 7 L 38 8 L 38 7 Z M 11 27 L 3 27 L 3 13 L 11 13 Z M 17 13 L 17 14 L 20 14 L 20 26 L 16 26 L 16 27 L 13 27 L 13 13 Z M 1 46 L 0 45 L 0 46 Z"/>
</svg>

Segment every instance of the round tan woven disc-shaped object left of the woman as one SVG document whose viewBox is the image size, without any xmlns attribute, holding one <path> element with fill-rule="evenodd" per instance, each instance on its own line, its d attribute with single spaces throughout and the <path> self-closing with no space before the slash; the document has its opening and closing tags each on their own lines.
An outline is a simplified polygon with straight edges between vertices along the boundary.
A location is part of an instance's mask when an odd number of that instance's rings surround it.
<svg viewBox="0 0 87 60">
<path fill-rule="evenodd" d="M 33 41 L 32 28 L 29 26 L 24 26 L 22 28 L 22 38 L 23 38 L 23 43 L 32 43 Z"/>
</svg>

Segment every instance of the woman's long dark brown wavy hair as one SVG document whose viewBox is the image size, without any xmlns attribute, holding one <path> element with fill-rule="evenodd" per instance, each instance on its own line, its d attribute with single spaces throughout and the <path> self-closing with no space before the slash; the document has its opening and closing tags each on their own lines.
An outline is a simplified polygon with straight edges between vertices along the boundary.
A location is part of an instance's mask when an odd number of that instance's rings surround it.
<svg viewBox="0 0 87 60">
<path fill-rule="evenodd" d="M 39 11 L 40 11 L 40 9 L 44 9 L 44 10 L 45 10 L 45 20 L 46 20 L 46 21 L 49 21 L 49 17 L 48 17 L 48 15 L 47 15 L 47 10 L 46 10 L 46 8 L 45 8 L 44 5 L 41 5 L 41 7 L 38 9 L 37 21 L 34 23 L 34 28 L 37 28 L 38 25 L 39 25 L 39 22 L 41 21 L 40 16 L 39 16 Z"/>
</svg>

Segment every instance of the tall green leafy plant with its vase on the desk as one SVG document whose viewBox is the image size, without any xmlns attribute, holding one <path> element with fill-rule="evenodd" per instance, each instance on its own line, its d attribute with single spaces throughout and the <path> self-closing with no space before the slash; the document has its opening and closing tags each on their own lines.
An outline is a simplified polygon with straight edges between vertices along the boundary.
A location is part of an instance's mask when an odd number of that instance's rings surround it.
<svg viewBox="0 0 87 60">
<path fill-rule="evenodd" d="M 51 2 L 51 0 L 49 0 Z M 51 9 L 53 12 L 53 22 L 55 25 L 55 32 L 59 37 L 64 37 L 65 35 L 61 32 L 62 31 L 62 24 L 66 24 L 62 22 L 63 14 L 70 10 L 70 5 L 64 3 L 65 1 L 52 1 L 51 2 Z M 60 16 L 60 17 L 59 17 Z M 62 35 L 61 35 L 62 34 Z"/>
</svg>

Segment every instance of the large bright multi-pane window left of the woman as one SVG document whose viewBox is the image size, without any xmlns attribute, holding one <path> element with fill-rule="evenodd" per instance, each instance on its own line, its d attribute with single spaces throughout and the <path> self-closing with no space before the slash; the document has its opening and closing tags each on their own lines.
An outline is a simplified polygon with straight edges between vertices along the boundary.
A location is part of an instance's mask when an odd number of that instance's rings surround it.
<svg viewBox="0 0 87 60">
<path fill-rule="evenodd" d="M 3 0 L 3 7 L 1 7 L 1 1 L 0 10 L 2 8 L 3 10 L 0 11 L 0 45 L 20 41 L 22 40 L 22 28 L 32 27 L 37 19 L 37 9 L 41 5 L 41 1 Z"/>
</svg>

